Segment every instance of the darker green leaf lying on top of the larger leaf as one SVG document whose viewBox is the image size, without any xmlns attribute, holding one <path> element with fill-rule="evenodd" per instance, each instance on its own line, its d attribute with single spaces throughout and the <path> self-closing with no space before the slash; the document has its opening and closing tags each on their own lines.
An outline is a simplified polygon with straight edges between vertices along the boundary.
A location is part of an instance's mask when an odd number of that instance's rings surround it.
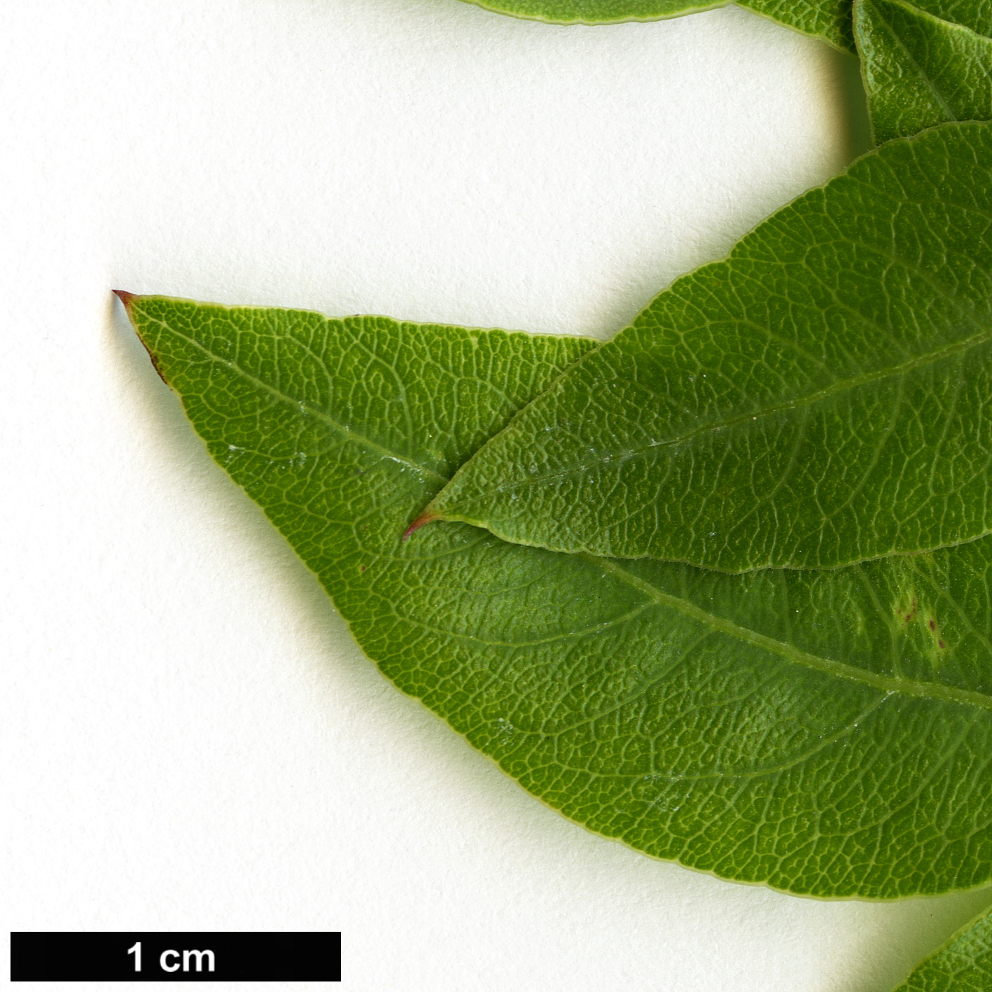
<svg viewBox="0 0 992 992">
<path fill-rule="evenodd" d="M 992 128 L 891 142 L 683 276 L 425 520 L 726 571 L 992 530 Z"/>
</svg>

